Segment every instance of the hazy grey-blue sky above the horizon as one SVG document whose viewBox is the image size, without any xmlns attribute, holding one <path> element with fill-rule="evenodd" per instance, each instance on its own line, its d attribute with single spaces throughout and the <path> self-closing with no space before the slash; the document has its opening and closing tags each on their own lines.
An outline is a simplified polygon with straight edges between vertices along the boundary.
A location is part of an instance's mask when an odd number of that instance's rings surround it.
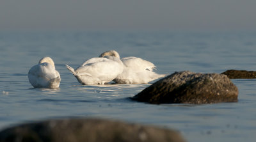
<svg viewBox="0 0 256 142">
<path fill-rule="evenodd" d="M 255 0 L 0 1 L 0 31 L 255 29 Z"/>
</svg>

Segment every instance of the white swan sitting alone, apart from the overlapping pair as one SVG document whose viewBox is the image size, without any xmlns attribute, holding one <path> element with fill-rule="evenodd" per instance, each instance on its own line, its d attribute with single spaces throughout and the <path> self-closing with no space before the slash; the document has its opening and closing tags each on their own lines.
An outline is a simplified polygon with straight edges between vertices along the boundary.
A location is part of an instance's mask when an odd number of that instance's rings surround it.
<svg viewBox="0 0 256 142">
<path fill-rule="evenodd" d="M 60 73 L 55 70 L 54 62 L 49 57 L 40 59 L 38 65 L 30 68 L 28 79 L 35 88 L 58 88 L 61 81 Z"/>
</svg>

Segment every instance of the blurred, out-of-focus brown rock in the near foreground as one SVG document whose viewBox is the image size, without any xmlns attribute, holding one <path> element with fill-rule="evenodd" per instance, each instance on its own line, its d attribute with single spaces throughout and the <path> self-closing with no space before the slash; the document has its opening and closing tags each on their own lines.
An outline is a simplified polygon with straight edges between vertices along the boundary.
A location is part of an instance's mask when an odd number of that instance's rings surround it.
<svg viewBox="0 0 256 142">
<path fill-rule="evenodd" d="M 65 119 L 18 125 L 0 132 L 0 141 L 96 142 L 173 141 L 183 142 L 179 132 L 134 123 L 101 119 Z"/>
</svg>

